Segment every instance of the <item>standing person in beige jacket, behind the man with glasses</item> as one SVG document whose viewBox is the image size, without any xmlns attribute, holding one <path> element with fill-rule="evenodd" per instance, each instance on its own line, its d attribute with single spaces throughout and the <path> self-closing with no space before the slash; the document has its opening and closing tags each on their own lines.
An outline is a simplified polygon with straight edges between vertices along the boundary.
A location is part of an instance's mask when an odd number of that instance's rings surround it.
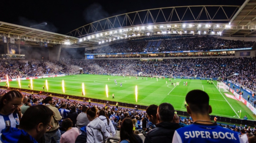
<svg viewBox="0 0 256 143">
<path fill-rule="evenodd" d="M 60 143 L 59 121 L 62 117 L 58 109 L 53 105 L 53 97 L 45 97 L 45 106 L 49 107 L 54 113 L 50 124 L 52 128 L 45 132 L 45 143 L 51 143 L 52 137 L 56 143 Z"/>
</svg>

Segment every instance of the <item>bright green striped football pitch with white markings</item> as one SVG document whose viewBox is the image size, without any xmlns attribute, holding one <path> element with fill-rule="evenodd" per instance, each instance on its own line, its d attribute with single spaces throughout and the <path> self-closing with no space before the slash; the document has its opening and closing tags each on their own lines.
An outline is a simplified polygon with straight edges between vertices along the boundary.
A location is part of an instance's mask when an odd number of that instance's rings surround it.
<svg viewBox="0 0 256 143">
<path fill-rule="evenodd" d="M 109 78 L 109 80 L 108 80 Z M 252 111 L 242 102 L 228 98 L 225 93 L 232 95 L 229 92 L 219 92 L 217 89 L 217 81 L 214 84 L 207 83 L 207 80 L 197 79 L 172 79 L 173 83 L 180 82 L 179 86 L 172 86 L 168 79 L 157 79 L 129 76 L 109 75 L 69 75 L 55 78 L 46 78 L 48 81 L 49 92 L 63 94 L 62 80 L 65 83 L 65 94 L 75 95 L 80 97 L 89 97 L 102 100 L 111 100 L 124 102 L 129 104 L 151 105 L 168 102 L 173 105 L 175 110 L 186 111 L 184 101 L 186 94 L 193 89 L 201 89 L 208 93 L 210 97 L 210 105 L 212 107 L 212 115 L 218 115 L 229 118 L 239 118 L 247 115 L 248 120 L 255 120 Z M 33 79 L 33 89 L 42 90 L 45 86 L 46 79 Z M 117 80 L 117 85 L 114 80 Z M 167 84 L 166 84 L 167 81 Z M 120 82 L 122 87 L 120 87 Z M 183 82 L 188 82 L 188 86 L 183 86 Z M 85 85 L 85 96 L 82 96 L 82 83 Z M 19 88 L 18 81 L 10 82 L 10 87 Z M 21 88 L 29 89 L 30 80 L 22 80 Z M 0 82 L 4 86 L 5 82 Z M 106 97 L 105 86 L 108 85 L 109 97 Z M 135 98 L 135 86 L 138 86 L 138 102 Z M 31 87 L 30 87 L 31 89 Z M 46 86 L 45 86 L 46 91 Z M 114 99 L 112 94 L 114 93 Z M 195 96 L 196 98 L 196 96 Z"/>
</svg>

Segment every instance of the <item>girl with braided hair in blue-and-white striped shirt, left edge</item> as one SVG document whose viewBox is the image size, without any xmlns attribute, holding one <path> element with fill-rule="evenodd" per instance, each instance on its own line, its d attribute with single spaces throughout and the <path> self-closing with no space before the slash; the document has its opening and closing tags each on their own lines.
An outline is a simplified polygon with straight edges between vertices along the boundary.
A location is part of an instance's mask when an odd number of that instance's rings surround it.
<svg viewBox="0 0 256 143">
<path fill-rule="evenodd" d="M 7 127 L 18 128 L 21 118 L 19 105 L 23 95 L 17 90 L 10 90 L 0 96 L 0 132 Z"/>
</svg>

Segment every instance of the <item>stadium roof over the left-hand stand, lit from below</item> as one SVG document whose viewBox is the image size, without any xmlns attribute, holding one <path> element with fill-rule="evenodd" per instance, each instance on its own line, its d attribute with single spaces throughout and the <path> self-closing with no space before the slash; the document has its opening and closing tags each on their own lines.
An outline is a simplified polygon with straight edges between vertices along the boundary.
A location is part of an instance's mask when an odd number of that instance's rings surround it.
<svg viewBox="0 0 256 143">
<path fill-rule="evenodd" d="M 25 45 L 39 46 L 39 42 L 47 42 L 48 46 L 55 44 L 75 43 L 76 37 L 48 32 L 30 27 L 15 25 L 0 21 L 0 36 L 15 39 L 25 39 Z M 2 39 L 0 39 L 2 42 Z"/>
</svg>

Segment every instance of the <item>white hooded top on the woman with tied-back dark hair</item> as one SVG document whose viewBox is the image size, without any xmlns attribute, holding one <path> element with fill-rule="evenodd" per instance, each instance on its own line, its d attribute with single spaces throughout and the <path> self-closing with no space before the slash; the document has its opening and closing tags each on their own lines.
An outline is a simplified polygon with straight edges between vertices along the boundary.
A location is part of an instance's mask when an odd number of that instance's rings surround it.
<svg viewBox="0 0 256 143">
<path fill-rule="evenodd" d="M 87 125 L 87 143 L 105 143 L 110 136 L 104 122 L 98 117 Z M 104 140 L 103 140 L 104 138 Z"/>
</svg>

